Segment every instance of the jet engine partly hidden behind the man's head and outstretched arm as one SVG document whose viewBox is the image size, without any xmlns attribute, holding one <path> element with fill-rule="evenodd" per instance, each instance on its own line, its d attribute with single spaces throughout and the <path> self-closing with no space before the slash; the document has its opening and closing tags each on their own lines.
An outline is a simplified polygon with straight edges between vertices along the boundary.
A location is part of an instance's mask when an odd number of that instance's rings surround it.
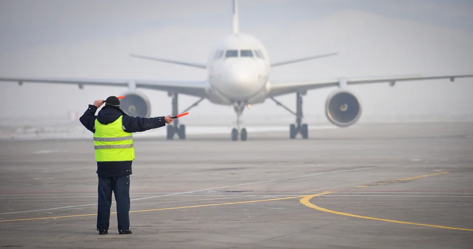
<svg viewBox="0 0 473 249">
<path fill-rule="evenodd" d="M 151 115 L 151 105 L 146 95 L 138 92 L 129 92 L 120 100 L 120 109 L 127 115 L 133 117 L 149 118 Z"/>
</svg>

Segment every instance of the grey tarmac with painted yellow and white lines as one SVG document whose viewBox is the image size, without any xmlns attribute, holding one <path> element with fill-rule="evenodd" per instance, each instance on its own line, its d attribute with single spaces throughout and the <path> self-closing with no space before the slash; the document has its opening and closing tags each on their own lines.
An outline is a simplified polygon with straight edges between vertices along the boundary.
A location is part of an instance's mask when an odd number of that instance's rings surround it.
<svg viewBox="0 0 473 249">
<path fill-rule="evenodd" d="M 472 123 L 134 144 L 133 234 L 98 235 L 92 139 L 0 141 L 0 248 L 473 248 Z"/>
</svg>

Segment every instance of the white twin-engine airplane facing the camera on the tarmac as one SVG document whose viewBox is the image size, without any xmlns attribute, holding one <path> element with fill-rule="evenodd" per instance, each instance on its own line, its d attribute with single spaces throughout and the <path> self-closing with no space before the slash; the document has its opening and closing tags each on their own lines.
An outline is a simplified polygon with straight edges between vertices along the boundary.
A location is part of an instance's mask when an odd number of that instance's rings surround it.
<svg viewBox="0 0 473 249">
<path fill-rule="evenodd" d="M 208 100 L 216 105 L 233 106 L 236 113 L 236 127 L 231 131 L 231 139 L 236 141 L 239 138 L 245 141 L 247 131 L 246 128 L 240 127 L 240 116 L 245 108 L 261 104 L 267 99 L 274 101 L 277 106 L 281 106 L 296 116 L 295 124 L 289 125 L 289 138 L 295 139 L 300 134 L 303 139 L 307 139 L 308 125 L 302 123 L 302 97 L 309 90 L 336 87 L 337 89 L 329 94 L 326 99 L 325 116 L 329 122 L 336 126 L 348 127 L 355 124 L 361 116 L 360 101 L 348 89 L 348 86 L 388 83 L 389 86 L 393 87 L 396 82 L 402 81 L 450 79 L 453 82 L 456 78 L 473 77 L 473 74 L 358 79 L 340 77 L 328 81 L 272 83 L 268 80 L 271 68 L 334 56 L 338 53 L 333 52 L 273 63 L 269 61 L 268 52 L 263 44 L 254 36 L 241 33 L 238 25 L 238 2 L 233 0 L 233 32 L 224 36 L 214 45 L 206 64 L 130 54 L 134 58 L 207 70 L 208 78 L 204 81 L 21 77 L 0 77 L 0 81 L 17 82 L 19 86 L 23 85 L 24 82 L 75 84 L 79 86 L 79 89 L 83 89 L 85 85 L 127 87 L 127 92 L 122 94 L 125 98 L 121 99 L 120 107 L 130 116 L 150 116 L 151 106 L 148 98 L 137 89 L 168 92 L 168 96 L 172 97 L 172 116 L 189 111 L 191 108 L 198 106 L 203 100 Z M 295 112 L 275 99 L 278 96 L 294 93 L 296 94 Z M 180 94 L 199 97 L 200 99 L 187 109 L 178 112 L 178 95 Z M 179 124 L 178 119 L 175 119 L 171 125 L 167 125 L 166 139 L 173 139 L 175 135 L 179 139 L 186 139 L 185 125 Z"/>
</svg>

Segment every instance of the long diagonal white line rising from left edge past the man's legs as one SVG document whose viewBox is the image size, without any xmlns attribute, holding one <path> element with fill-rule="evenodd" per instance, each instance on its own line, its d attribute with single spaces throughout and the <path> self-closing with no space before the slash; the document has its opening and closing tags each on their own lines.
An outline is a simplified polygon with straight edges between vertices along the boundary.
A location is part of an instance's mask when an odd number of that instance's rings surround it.
<svg viewBox="0 0 473 249">
<path fill-rule="evenodd" d="M 152 198 L 159 198 L 159 197 L 165 197 L 165 196 L 174 196 L 174 195 L 182 195 L 182 194 L 190 194 L 190 193 L 196 193 L 196 192 L 203 192 L 203 191 L 209 191 L 209 190 L 214 190 L 214 189 L 238 187 L 238 186 L 245 186 L 245 185 L 254 185 L 254 184 L 260 184 L 260 183 L 272 182 L 272 181 L 295 180 L 295 179 L 306 178 L 306 177 L 311 177 L 311 176 L 335 174 L 335 173 L 350 172 L 350 171 L 357 171 L 357 170 L 364 170 L 364 169 L 372 169 L 372 168 L 375 168 L 375 167 L 365 167 L 365 168 L 358 168 L 358 169 L 346 169 L 346 170 L 336 170 L 336 171 L 329 171 L 329 172 L 320 172 L 320 173 L 314 173 L 314 174 L 302 175 L 302 176 L 296 176 L 296 177 L 285 177 L 285 178 L 271 179 L 271 180 L 258 181 L 258 182 L 241 183 L 241 184 L 235 184 L 235 185 L 229 185 L 229 186 L 223 186 L 223 187 L 215 187 L 215 188 L 207 188 L 207 189 L 201 189 L 201 190 L 193 190 L 193 191 L 186 191 L 186 192 L 178 192 L 178 193 L 172 193 L 172 194 L 166 194 L 166 195 L 149 196 L 149 197 L 143 197 L 143 198 L 138 198 L 138 199 L 132 199 L 132 200 L 130 200 L 130 201 L 140 201 L 140 200 L 146 200 L 146 199 L 152 199 Z M 112 203 L 116 203 L 116 202 L 112 202 Z M 76 205 L 76 206 L 57 207 L 57 208 L 25 210 L 25 211 L 16 211 L 16 212 L 9 212 L 9 213 L 0 213 L 0 215 L 29 213 L 29 212 L 39 212 L 39 211 L 49 211 L 49 210 L 58 210 L 58 209 L 67 209 L 67 208 L 79 208 L 79 207 L 96 206 L 96 205 L 97 205 L 97 203 L 84 204 L 84 205 Z"/>
</svg>

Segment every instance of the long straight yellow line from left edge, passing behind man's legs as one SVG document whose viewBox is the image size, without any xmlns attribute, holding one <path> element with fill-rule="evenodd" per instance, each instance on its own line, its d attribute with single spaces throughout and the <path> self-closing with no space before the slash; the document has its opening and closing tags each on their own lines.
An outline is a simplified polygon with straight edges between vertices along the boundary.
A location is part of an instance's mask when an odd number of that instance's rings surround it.
<svg viewBox="0 0 473 249">
<path fill-rule="evenodd" d="M 323 194 L 323 193 L 321 193 Z M 320 194 L 319 194 L 320 195 Z M 317 195 L 315 195 L 317 196 Z M 302 196 L 293 196 L 293 197 L 283 197 L 275 199 L 265 199 L 265 200 L 255 200 L 255 201 L 244 201 L 244 202 L 227 202 L 227 203 L 217 203 L 217 204 L 206 204 L 206 205 L 196 205 L 196 206 L 185 206 L 185 207 L 173 207 L 173 208 L 158 208 L 158 209 L 146 209 L 146 210 L 134 210 L 130 213 L 137 212 L 150 212 L 150 211 L 160 211 L 160 210 L 172 210 L 172 209 L 185 209 L 185 208 L 200 208 L 200 207 L 211 207 L 211 206 L 221 206 L 221 205 L 234 205 L 234 204 L 243 204 L 243 203 L 254 203 L 254 202 L 267 202 L 267 201 L 279 201 L 286 199 L 295 199 L 302 198 Z M 116 214 L 117 212 L 112 212 L 111 214 Z M 32 221 L 32 220 L 46 220 L 46 219 L 59 219 L 59 218 L 70 218 L 70 217 L 83 217 L 83 216 L 93 216 L 97 214 L 84 214 L 84 215 L 67 215 L 67 216 L 54 216 L 54 217 L 38 217 L 38 218 L 26 218 L 26 219 L 16 219 L 16 220 L 4 220 L 0 222 L 12 222 L 12 221 Z"/>
</svg>

